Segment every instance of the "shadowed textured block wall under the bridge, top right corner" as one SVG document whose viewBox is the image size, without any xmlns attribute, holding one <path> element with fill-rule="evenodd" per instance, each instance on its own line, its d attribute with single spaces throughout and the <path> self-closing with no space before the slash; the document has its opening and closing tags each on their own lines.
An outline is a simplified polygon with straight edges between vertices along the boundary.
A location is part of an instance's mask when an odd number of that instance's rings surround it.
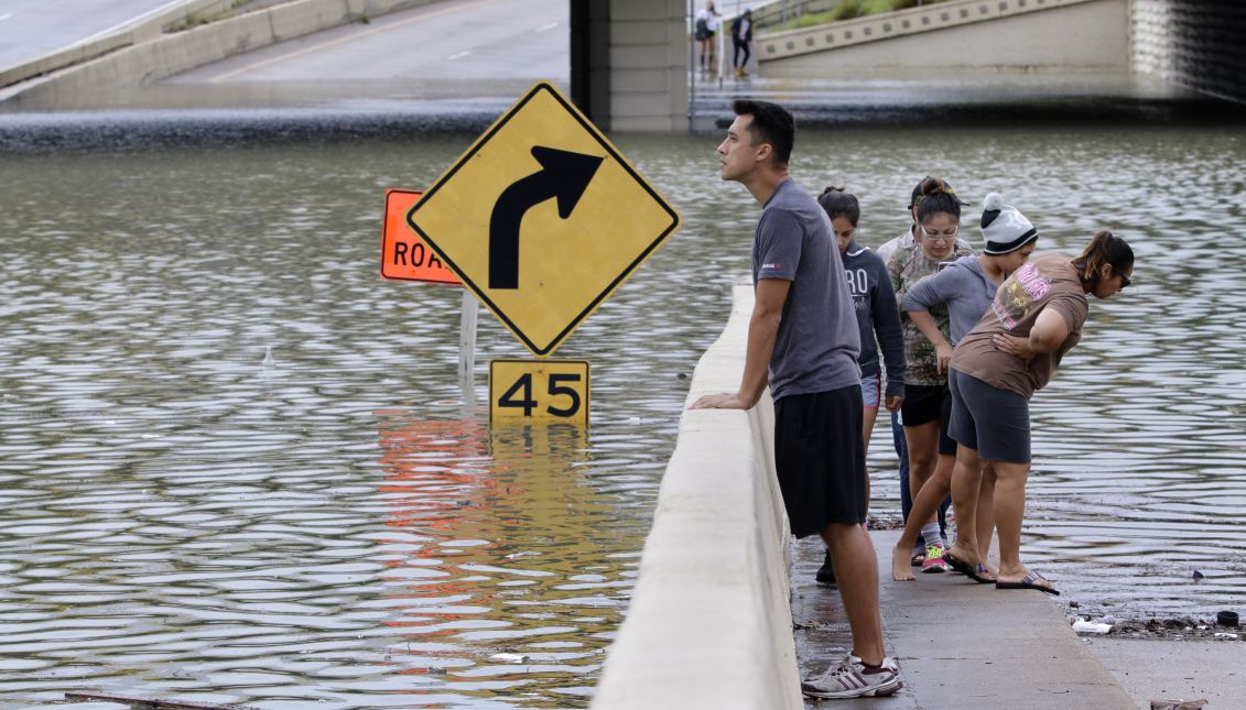
<svg viewBox="0 0 1246 710">
<path fill-rule="evenodd" d="M 1134 70 L 1246 102 L 1246 5 L 1240 0 L 1131 0 Z"/>
</svg>

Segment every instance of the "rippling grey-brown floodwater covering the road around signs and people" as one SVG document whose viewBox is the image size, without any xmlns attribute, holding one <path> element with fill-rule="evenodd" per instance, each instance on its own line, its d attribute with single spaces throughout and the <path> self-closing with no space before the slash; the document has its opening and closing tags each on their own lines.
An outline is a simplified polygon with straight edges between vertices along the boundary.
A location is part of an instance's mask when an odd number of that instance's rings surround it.
<svg viewBox="0 0 1246 710">
<path fill-rule="evenodd" d="M 758 207 L 716 135 L 619 137 L 684 227 L 558 350 L 592 362 L 591 430 L 491 432 L 459 291 L 376 275 L 384 188 L 473 137 L 0 156 L 0 705 L 587 705 Z M 1246 605 L 1240 128 L 809 131 L 792 169 L 856 192 L 867 244 L 926 173 L 1044 250 L 1128 238 L 1135 285 L 1033 402 L 1023 553 L 1118 617 Z M 477 400 L 525 356 L 480 324 Z"/>
</svg>

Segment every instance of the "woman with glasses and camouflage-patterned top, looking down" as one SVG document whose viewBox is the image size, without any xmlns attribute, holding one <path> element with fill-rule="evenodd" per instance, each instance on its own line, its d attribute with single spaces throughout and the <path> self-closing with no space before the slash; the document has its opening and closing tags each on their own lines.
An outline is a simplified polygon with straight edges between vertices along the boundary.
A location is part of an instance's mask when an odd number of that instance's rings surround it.
<svg viewBox="0 0 1246 710">
<path fill-rule="evenodd" d="M 952 187 L 934 177 L 927 177 L 918 187 L 921 196 L 915 202 L 913 245 L 898 249 L 887 262 L 891 284 L 901 303 L 917 282 L 938 272 L 942 264 L 973 254 L 968 244 L 957 242 L 962 203 Z M 937 306 L 930 311 L 930 316 L 947 338 L 947 308 Z M 934 346 L 907 314 L 901 316 L 901 326 L 908 367 L 905 372 L 905 402 L 900 417 L 908 445 L 908 492 L 916 501 L 922 486 L 938 466 L 948 472 L 952 470 L 956 442 L 947 437 L 952 396 Z M 943 551 L 947 544 L 937 517 L 933 513 L 927 519 L 915 521 L 913 517 L 910 512 L 907 524 L 921 526 L 926 543 L 922 572 L 946 572 Z"/>
</svg>

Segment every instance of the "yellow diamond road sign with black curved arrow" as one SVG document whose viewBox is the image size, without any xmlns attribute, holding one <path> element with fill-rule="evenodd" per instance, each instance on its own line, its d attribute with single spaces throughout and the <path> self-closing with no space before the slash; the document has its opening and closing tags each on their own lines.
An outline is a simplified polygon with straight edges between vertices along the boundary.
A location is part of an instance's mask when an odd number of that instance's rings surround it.
<svg viewBox="0 0 1246 710">
<path fill-rule="evenodd" d="M 533 355 L 549 355 L 679 227 L 569 101 L 535 85 L 407 222 Z"/>
</svg>

